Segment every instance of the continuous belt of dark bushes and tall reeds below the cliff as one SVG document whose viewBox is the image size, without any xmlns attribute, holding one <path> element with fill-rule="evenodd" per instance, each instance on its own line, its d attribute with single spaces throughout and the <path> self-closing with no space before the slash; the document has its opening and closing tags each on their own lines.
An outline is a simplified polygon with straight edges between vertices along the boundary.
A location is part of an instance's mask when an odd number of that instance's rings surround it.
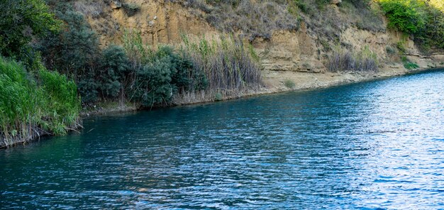
<svg viewBox="0 0 444 210">
<path fill-rule="evenodd" d="M 122 46 L 102 50 L 82 13 L 66 2 L 54 8 L 65 27 L 35 48 L 48 68 L 77 82 L 84 106 L 116 100 L 148 108 L 167 106 L 178 95 L 199 92 L 211 100 L 216 93 L 236 95 L 261 84 L 254 53 L 244 48 L 242 40 L 187 39 L 180 49 L 168 45 L 152 49 L 138 31 L 126 31 Z"/>
</svg>

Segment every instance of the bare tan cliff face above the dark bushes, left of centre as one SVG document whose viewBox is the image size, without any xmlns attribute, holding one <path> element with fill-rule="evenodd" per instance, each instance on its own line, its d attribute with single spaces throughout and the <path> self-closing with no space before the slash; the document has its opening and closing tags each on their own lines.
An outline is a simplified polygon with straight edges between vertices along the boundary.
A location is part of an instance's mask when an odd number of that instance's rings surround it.
<svg viewBox="0 0 444 210">
<path fill-rule="evenodd" d="M 118 1 L 117 1 L 118 2 Z M 140 6 L 133 15 L 128 15 L 124 6 L 104 4 L 105 16 L 88 18 L 91 26 L 99 33 L 102 45 L 121 43 L 121 36 L 126 29 L 140 31 L 144 41 L 157 46 L 161 43 L 179 43 L 180 35 L 213 35 L 211 28 L 203 18 L 201 11 L 190 11 L 180 4 L 165 3 L 163 0 L 128 1 Z"/>
</svg>

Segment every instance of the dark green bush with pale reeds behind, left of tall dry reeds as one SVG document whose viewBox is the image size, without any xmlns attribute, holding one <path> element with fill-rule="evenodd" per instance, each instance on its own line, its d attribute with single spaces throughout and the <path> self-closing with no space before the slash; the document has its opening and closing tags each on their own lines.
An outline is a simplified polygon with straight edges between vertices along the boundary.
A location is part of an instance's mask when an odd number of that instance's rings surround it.
<svg viewBox="0 0 444 210">
<path fill-rule="evenodd" d="M 126 31 L 123 48 L 131 66 L 125 76 L 132 78 L 125 84 L 131 101 L 145 107 L 165 105 L 170 104 L 174 94 L 206 86 L 206 80 L 194 71 L 187 55 L 174 52 L 169 46 L 151 50 L 137 31 Z"/>
</svg>

